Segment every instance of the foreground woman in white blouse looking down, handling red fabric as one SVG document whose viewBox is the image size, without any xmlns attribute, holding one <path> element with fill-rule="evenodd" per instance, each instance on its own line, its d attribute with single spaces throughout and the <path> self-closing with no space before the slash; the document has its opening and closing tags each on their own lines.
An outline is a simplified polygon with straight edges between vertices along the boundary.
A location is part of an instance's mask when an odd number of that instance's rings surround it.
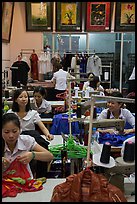
<svg viewBox="0 0 137 204">
<path fill-rule="evenodd" d="M 53 155 L 40 146 L 33 137 L 20 135 L 21 127 L 17 115 L 6 113 L 2 117 L 2 170 L 5 171 L 16 158 L 27 165 L 27 169 L 33 178 L 29 163 L 32 159 L 49 162 Z M 42 170 L 42 169 L 41 169 Z"/>
</svg>

